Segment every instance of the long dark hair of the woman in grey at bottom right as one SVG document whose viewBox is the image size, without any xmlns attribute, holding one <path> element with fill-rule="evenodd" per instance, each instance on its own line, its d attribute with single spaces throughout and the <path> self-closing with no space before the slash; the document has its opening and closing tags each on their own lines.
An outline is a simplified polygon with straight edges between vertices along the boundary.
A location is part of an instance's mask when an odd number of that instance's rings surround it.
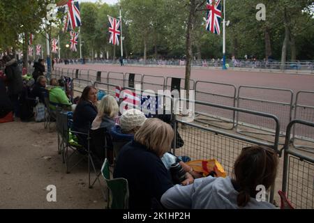
<svg viewBox="0 0 314 223">
<path fill-rule="evenodd" d="M 264 185 L 266 190 L 276 180 L 278 156 L 265 146 L 251 146 L 242 149 L 234 162 L 235 182 L 239 187 L 237 204 L 244 207 L 251 197 L 256 197 L 257 185 Z"/>
</svg>

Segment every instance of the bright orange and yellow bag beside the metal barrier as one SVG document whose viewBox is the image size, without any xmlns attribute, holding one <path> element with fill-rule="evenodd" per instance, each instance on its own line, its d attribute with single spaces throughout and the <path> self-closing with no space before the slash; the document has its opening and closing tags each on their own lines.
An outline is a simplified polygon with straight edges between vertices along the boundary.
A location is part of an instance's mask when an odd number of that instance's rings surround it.
<svg viewBox="0 0 314 223">
<path fill-rule="evenodd" d="M 223 166 L 217 160 L 194 160 L 186 162 L 193 171 L 202 174 L 204 177 L 214 174 L 215 177 L 225 178 L 227 174 Z"/>
</svg>

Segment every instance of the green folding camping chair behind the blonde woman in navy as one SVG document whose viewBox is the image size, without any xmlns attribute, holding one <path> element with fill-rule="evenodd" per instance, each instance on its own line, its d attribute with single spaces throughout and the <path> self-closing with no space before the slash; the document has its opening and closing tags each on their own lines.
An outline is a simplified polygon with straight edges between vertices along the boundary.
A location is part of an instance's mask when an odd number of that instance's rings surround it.
<svg viewBox="0 0 314 223">
<path fill-rule="evenodd" d="M 128 180 L 125 178 L 110 179 L 110 169 L 107 158 L 101 168 L 103 178 L 107 183 L 107 208 L 108 209 L 128 209 Z"/>
</svg>

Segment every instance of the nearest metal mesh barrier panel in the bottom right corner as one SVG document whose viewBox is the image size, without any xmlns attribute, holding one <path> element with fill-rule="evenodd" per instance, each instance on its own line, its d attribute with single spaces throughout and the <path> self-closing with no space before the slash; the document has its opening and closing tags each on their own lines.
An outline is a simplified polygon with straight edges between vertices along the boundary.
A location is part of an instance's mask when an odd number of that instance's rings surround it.
<svg viewBox="0 0 314 223">
<path fill-rule="evenodd" d="M 311 128 L 314 123 L 294 120 L 287 126 L 285 156 L 283 164 L 283 192 L 294 208 L 314 208 L 314 156 L 313 153 L 296 150 L 293 146 L 292 129 L 294 125 Z"/>
</svg>

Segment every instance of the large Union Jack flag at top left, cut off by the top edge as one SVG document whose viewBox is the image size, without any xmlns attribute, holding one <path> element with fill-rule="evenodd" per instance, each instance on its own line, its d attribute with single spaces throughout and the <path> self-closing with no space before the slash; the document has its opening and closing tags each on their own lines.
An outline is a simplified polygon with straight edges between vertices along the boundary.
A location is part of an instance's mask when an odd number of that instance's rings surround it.
<svg viewBox="0 0 314 223">
<path fill-rule="evenodd" d="M 66 26 L 68 26 L 68 29 L 70 30 L 74 30 L 75 27 L 82 26 L 80 4 L 78 3 L 78 1 L 68 1 L 68 15 Z"/>
</svg>

